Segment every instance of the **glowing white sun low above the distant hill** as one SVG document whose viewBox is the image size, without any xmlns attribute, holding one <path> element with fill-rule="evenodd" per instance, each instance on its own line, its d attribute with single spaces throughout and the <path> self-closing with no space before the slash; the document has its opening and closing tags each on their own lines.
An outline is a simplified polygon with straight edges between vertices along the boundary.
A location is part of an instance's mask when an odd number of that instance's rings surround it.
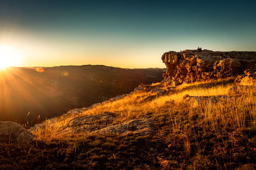
<svg viewBox="0 0 256 170">
<path fill-rule="evenodd" d="M 0 45 L 0 69 L 10 66 L 20 66 L 22 54 L 12 46 Z"/>
</svg>

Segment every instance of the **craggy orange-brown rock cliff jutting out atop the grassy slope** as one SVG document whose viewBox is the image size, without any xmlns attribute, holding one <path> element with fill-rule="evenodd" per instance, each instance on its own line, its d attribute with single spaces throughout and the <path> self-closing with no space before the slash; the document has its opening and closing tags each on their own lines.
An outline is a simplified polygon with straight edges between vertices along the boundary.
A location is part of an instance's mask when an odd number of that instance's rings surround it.
<svg viewBox="0 0 256 170">
<path fill-rule="evenodd" d="M 213 52 L 184 50 L 166 52 L 162 56 L 167 70 L 164 80 L 173 86 L 183 82 L 216 80 L 243 74 L 256 68 L 256 52 Z"/>
</svg>

